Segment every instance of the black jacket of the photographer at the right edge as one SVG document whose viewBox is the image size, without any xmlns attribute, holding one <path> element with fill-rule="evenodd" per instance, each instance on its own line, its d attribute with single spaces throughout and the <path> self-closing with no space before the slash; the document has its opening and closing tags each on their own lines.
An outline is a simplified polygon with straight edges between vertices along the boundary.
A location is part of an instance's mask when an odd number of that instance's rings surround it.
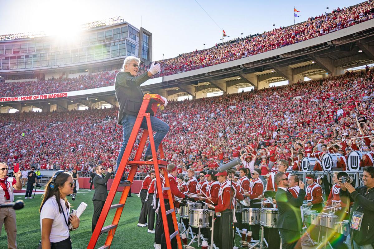
<svg viewBox="0 0 374 249">
<path fill-rule="evenodd" d="M 370 245 L 374 244 L 374 188 L 369 189 L 366 186 L 360 186 L 349 193 L 347 191 L 340 190 L 340 199 L 342 202 L 347 203 L 347 198 L 350 198 L 350 202 L 353 204 L 350 221 L 352 220 L 353 211 L 364 213 L 362 217 L 360 231 L 353 230 L 353 240 L 359 245 Z M 365 195 L 366 194 L 366 195 Z"/>
</svg>

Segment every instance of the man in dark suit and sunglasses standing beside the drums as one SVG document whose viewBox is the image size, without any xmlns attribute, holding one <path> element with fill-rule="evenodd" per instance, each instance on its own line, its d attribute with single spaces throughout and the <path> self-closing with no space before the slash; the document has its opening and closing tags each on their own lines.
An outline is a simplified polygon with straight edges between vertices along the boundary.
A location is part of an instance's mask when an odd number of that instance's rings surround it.
<svg viewBox="0 0 374 249">
<path fill-rule="evenodd" d="M 297 244 L 301 248 L 297 242 L 300 241 L 300 231 L 303 228 L 300 206 L 303 205 L 305 196 L 304 183 L 300 181 L 299 194 L 294 198 L 287 190 L 288 180 L 283 172 L 275 174 L 274 181 L 278 185 L 275 200 L 278 205 L 277 228 L 281 234 L 282 248 L 297 248 Z"/>
</svg>

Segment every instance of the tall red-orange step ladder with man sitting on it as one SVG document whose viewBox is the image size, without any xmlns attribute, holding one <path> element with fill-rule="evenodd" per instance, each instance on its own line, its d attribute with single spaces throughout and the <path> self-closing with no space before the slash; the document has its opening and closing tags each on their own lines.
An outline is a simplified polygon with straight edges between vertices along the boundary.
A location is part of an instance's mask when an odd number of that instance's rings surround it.
<svg viewBox="0 0 374 249">
<path fill-rule="evenodd" d="M 168 164 L 165 160 L 165 156 L 162 149 L 162 144 L 159 146 L 160 150 L 160 160 L 151 160 L 151 161 L 140 161 L 143 149 L 145 147 L 145 143 L 147 141 L 148 135 L 152 135 L 152 127 L 151 127 L 151 119 L 150 119 L 150 113 L 147 112 L 148 106 L 151 104 L 152 111 L 156 113 L 158 106 L 161 106 L 164 104 L 162 98 L 158 94 L 145 94 L 143 97 L 143 102 L 140 107 L 140 111 L 138 113 L 137 119 L 135 121 L 134 127 L 132 128 L 131 135 L 129 138 L 129 141 L 127 143 L 126 149 L 123 153 L 122 160 L 120 162 L 120 165 L 118 167 L 118 171 L 116 172 L 116 176 L 114 177 L 113 184 L 110 187 L 108 197 L 105 201 L 104 207 L 102 208 L 99 220 L 96 224 L 95 230 L 93 230 L 90 242 L 88 243 L 87 249 L 94 249 L 95 245 L 101 236 L 101 234 L 108 232 L 107 239 L 105 240 L 105 245 L 101 246 L 98 249 L 109 249 L 110 245 L 113 241 L 114 233 L 116 232 L 117 225 L 119 222 L 119 219 L 121 217 L 123 207 L 125 206 L 127 195 L 130 191 L 130 187 L 132 184 L 132 181 L 134 180 L 135 173 L 137 171 L 138 165 L 154 165 L 154 171 L 156 172 L 156 186 L 157 191 L 159 194 L 159 202 L 160 202 L 160 210 L 162 215 L 162 221 L 163 221 L 163 227 L 165 231 L 165 238 L 166 238 L 166 245 L 168 249 L 171 248 L 171 239 L 174 237 L 177 237 L 178 242 L 178 249 L 182 249 L 182 243 L 181 243 L 181 237 L 179 234 L 178 224 L 177 224 L 177 217 L 175 216 L 175 210 L 174 210 L 174 203 L 172 200 L 171 190 L 170 190 L 170 184 L 169 181 L 165 181 L 165 187 L 162 188 L 162 182 L 160 179 L 160 169 L 163 172 L 163 175 L 166 179 L 169 179 L 168 172 L 166 171 L 166 165 Z M 134 143 L 136 141 L 138 131 L 140 130 L 140 125 L 143 121 L 143 118 L 147 121 L 148 130 L 144 130 L 137 152 L 135 154 L 134 161 L 129 161 L 129 156 L 133 150 Z M 152 150 L 152 156 L 153 158 L 157 158 L 156 156 L 156 148 L 154 147 L 154 140 L 153 136 L 149 136 L 149 141 L 151 144 L 151 150 Z M 116 195 L 117 188 L 120 185 L 120 180 L 122 178 L 123 172 L 125 171 L 125 168 L 127 165 L 131 165 L 131 169 L 128 175 L 127 180 L 131 182 L 131 184 L 128 184 L 123 189 L 121 198 L 119 203 L 112 204 L 114 196 Z M 166 190 L 168 193 L 168 200 L 170 203 L 170 210 L 165 210 L 165 200 L 163 198 L 163 190 Z M 108 212 L 110 209 L 116 209 L 116 214 L 114 215 L 113 222 L 110 225 L 104 226 L 104 222 L 107 218 Z M 168 228 L 168 221 L 166 218 L 166 215 L 171 214 L 173 218 L 174 223 L 174 230 L 175 232 L 173 234 L 169 234 L 169 228 Z M 159 214 L 160 215 L 160 214 Z"/>
</svg>

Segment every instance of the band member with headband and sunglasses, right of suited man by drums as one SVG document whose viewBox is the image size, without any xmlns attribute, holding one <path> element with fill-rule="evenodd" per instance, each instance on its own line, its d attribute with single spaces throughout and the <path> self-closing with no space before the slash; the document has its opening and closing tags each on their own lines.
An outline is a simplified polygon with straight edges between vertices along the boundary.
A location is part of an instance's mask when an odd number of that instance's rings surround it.
<svg viewBox="0 0 374 249">
<path fill-rule="evenodd" d="M 307 201 L 307 205 L 310 206 L 312 210 L 316 210 L 318 212 L 322 211 L 322 187 L 315 182 L 314 175 L 307 174 L 306 183 L 308 184 L 306 188 L 306 196 L 305 200 Z"/>
</svg>

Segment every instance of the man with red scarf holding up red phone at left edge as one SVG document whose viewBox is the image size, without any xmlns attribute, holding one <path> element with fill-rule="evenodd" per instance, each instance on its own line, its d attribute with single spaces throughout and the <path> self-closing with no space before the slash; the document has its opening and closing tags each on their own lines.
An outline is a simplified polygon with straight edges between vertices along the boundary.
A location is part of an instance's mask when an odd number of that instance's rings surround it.
<svg viewBox="0 0 374 249">
<path fill-rule="evenodd" d="M 14 173 L 15 177 L 7 177 L 8 165 L 6 162 L 0 162 L 0 204 L 6 204 L 14 201 L 13 189 L 21 190 L 21 171 Z M 8 234 L 8 248 L 16 249 L 16 212 L 13 208 L 0 208 L 0 233 L 4 227 Z"/>
</svg>

